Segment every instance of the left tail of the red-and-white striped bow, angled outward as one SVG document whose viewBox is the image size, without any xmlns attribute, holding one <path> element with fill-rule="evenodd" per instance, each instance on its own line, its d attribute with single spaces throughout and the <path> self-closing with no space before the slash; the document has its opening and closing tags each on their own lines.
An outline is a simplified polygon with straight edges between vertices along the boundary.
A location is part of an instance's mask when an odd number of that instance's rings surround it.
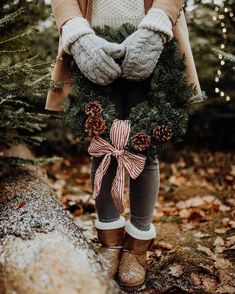
<svg viewBox="0 0 235 294">
<path fill-rule="evenodd" d="M 95 180 L 94 180 L 94 191 L 92 194 L 92 198 L 95 199 L 99 193 L 100 193 L 100 188 L 102 185 L 102 180 L 103 180 L 103 176 L 105 175 L 109 164 L 110 164 L 110 154 L 106 154 L 102 160 L 102 162 L 100 163 L 99 167 L 96 170 L 95 173 Z"/>
</svg>

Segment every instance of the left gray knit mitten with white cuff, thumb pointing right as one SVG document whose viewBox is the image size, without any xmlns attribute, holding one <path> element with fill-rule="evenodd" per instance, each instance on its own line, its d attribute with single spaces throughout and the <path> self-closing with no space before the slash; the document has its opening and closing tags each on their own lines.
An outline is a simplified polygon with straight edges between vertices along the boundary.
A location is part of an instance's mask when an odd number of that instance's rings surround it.
<svg viewBox="0 0 235 294">
<path fill-rule="evenodd" d="M 121 75 L 120 66 L 114 61 L 125 54 L 123 44 L 111 43 L 98 37 L 88 21 L 76 17 L 62 27 L 64 50 L 73 55 L 81 72 L 100 85 L 112 83 Z"/>
</svg>

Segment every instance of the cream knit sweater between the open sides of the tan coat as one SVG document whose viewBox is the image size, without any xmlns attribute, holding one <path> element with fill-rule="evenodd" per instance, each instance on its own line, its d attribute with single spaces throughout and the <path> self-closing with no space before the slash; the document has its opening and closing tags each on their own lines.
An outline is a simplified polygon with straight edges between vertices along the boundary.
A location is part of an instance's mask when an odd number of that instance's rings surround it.
<svg viewBox="0 0 235 294">
<path fill-rule="evenodd" d="M 144 15 L 144 0 L 93 0 L 91 27 L 116 29 L 125 22 L 138 26 Z"/>
</svg>

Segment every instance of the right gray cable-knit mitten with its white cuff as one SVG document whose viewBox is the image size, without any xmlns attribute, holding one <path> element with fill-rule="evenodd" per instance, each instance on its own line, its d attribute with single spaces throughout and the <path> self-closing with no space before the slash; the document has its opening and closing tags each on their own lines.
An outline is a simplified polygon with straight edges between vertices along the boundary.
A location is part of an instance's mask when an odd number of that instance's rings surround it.
<svg viewBox="0 0 235 294">
<path fill-rule="evenodd" d="M 145 80 L 153 72 L 166 40 L 173 37 L 170 18 L 160 9 L 151 8 L 138 25 L 138 30 L 127 37 L 121 65 L 122 77 Z"/>
</svg>

